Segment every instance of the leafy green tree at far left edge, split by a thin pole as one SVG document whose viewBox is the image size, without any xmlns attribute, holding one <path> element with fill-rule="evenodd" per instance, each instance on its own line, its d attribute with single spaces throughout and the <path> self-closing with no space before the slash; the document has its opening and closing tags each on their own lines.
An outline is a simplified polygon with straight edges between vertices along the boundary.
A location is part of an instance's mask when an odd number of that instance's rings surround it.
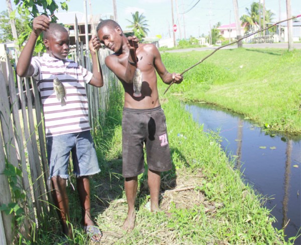
<svg viewBox="0 0 301 245">
<path fill-rule="evenodd" d="M 15 18 L 16 28 L 18 33 L 31 31 L 30 19 L 27 15 L 22 14 L 19 18 Z M 0 12 L 0 42 L 10 42 L 13 41 L 12 26 L 10 23 L 9 12 Z"/>
</svg>

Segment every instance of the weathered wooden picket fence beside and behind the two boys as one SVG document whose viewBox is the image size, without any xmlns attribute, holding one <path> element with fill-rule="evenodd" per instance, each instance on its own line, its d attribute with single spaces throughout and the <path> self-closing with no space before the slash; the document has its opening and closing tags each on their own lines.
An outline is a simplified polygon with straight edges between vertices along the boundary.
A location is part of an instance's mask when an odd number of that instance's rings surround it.
<svg viewBox="0 0 301 245">
<path fill-rule="evenodd" d="M 90 59 L 83 55 L 82 45 L 80 50 L 71 52 L 71 55 L 89 68 Z M 87 85 L 92 127 L 95 122 L 105 119 L 110 94 L 120 89 L 118 79 L 104 65 L 104 58 L 109 52 L 108 49 L 100 49 L 98 52 L 103 87 Z M 49 212 L 48 203 L 52 202 L 52 197 L 47 181 L 49 172 L 43 112 L 36 82 L 32 78 L 17 77 L 17 92 L 15 71 L 8 56 L 5 62 L 6 70 L 0 71 L 0 205 L 6 206 L 7 210 L 0 213 L 0 244 L 12 244 L 16 229 L 26 237 L 30 236 L 30 230 L 35 228 L 32 222 L 38 225 L 42 214 Z M 5 174 L 5 171 L 9 171 L 9 174 Z M 27 217 L 21 227 L 14 223 L 14 214 L 6 212 L 10 208 L 17 210 L 18 206 L 24 208 Z"/>
</svg>

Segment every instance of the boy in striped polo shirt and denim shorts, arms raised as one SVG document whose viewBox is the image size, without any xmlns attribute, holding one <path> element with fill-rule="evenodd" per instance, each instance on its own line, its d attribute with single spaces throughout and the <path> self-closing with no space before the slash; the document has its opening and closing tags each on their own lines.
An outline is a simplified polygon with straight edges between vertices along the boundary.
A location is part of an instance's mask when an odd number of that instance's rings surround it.
<svg viewBox="0 0 301 245">
<path fill-rule="evenodd" d="M 90 215 L 89 175 L 98 173 L 100 169 L 90 134 L 85 83 L 97 87 L 103 85 L 102 71 L 98 71 L 96 58 L 100 42 L 95 36 L 89 41 L 93 63 L 93 70 L 90 72 L 67 58 L 69 33 L 64 26 L 50 21 L 46 15 L 34 19 L 33 31 L 20 54 L 17 73 L 21 77 L 33 76 L 40 91 L 45 120 L 49 178 L 63 233 L 72 238 L 66 192 L 66 181 L 69 177 L 68 162 L 72 151 L 82 206 L 82 224 L 91 239 L 99 241 L 102 234 Z M 32 57 L 36 40 L 42 31 L 47 52 L 42 57 Z M 59 87 L 56 87 L 55 83 L 57 94 L 54 90 L 54 80 L 59 83 Z M 63 97 L 64 103 L 61 101 Z"/>
</svg>

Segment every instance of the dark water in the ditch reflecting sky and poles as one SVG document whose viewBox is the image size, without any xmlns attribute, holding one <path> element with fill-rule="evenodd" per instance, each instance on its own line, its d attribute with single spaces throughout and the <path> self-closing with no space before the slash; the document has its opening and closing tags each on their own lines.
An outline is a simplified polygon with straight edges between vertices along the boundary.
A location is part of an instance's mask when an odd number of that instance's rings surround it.
<svg viewBox="0 0 301 245">
<path fill-rule="evenodd" d="M 277 219 L 273 226 L 287 223 L 286 238 L 295 236 L 301 226 L 301 135 L 267 134 L 241 115 L 205 103 L 186 104 L 186 110 L 204 131 L 220 131 L 222 147 L 237 157 L 245 181 L 270 197 L 266 207 Z M 295 244 L 301 244 L 300 237 Z"/>
</svg>

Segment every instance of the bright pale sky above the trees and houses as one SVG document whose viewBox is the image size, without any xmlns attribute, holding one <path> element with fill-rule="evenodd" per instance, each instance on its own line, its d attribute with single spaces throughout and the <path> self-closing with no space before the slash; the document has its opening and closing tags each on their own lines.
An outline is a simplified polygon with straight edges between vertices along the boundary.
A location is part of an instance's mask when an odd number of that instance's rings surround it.
<svg viewBox="0 0 301 245">
<path fill-rule="evenodd" d="M 143 13 L 147 20 L 148 36 L 161 35 L 163 38 L 173 37 L 173 24 L 177 24 L 176 38 L 208 35 L 210 26 L 218 22 L 229 24 L 235 22 L 233 0 L 173 0 L 174 23 L 172 21 L 172 0 L 115 0 L 117 6 L 117 20 L 123 30 L 132 20 L 131 13 Z M 259 2 L 259 0 L 256 0 Z M 280 18 L 279 18 L 280 1 Z M 301 0 L 291 1 L 291 14 L 301 14 Z M 59 4 L 60 0 L 56 0 Z M 102 14 L 104 18 L 113 15 L 113 0 L 86 0 L 87 12 Z M 254 0 L 237 0 L 239 17 L 246 14 L 246 7 L 250 8 Z M 286 19 L 285 0 L 265 0 L 265 8 L 274 13 L 273 21 Z M 263 3 L 263 0 L 261 0 Z M 13 0 L 12 0 L 13 4 Z M 68 11 L 84 12 L 84 0 L 69 0 Z M 178 7 L 177 7 L 178 6 Z M 13 5 L 13 9 L 15 6 Z M 6 5 L 0 5 L 0 11 L 6 10 Z M 64 12 L 65 10 L 59 10 Z M 301 17 L 298 18 L 301 21 Z M 184 24 L 185 23 L 185 24 Z"/>
</svg>

